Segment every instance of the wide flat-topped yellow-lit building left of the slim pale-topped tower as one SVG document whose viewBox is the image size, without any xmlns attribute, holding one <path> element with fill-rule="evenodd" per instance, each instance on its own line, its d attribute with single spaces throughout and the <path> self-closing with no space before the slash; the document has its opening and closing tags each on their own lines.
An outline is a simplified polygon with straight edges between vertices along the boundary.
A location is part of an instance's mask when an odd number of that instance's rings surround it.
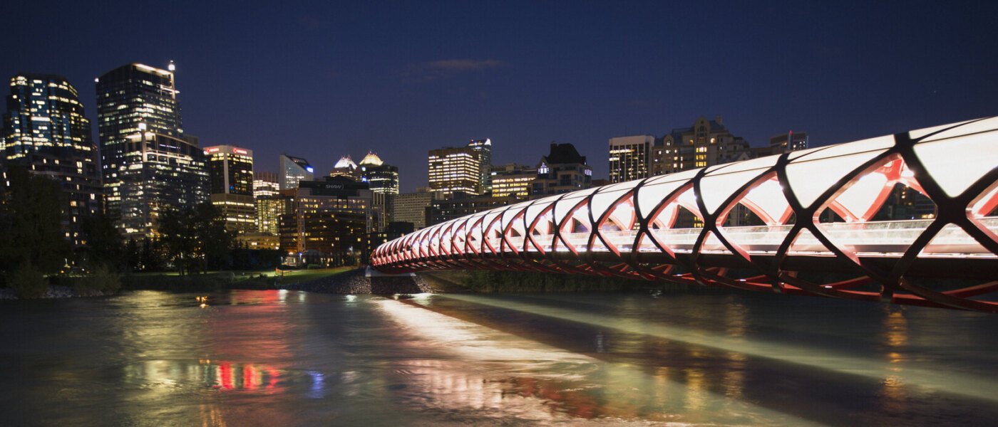
<svg viewBox="0 0 998 427">
<path fill-rule="evenodd" d="M 481 161 L 470 146 L 447 147 L 429 151 L 429 184 L 433 191 L 450 198 L 454 192 L 481 194 Z"/>
</svg>

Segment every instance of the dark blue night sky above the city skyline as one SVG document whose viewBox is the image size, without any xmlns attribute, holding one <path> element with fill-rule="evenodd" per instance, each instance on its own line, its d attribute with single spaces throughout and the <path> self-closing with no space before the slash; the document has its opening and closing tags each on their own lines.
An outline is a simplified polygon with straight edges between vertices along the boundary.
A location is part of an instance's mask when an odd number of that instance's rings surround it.
<svg viewBox="0 0 998 427">
<path fill-rule="evenodd" d="M 96 123 L 95 77 L 173 58 L 202 145 L 268 171 L 372 150 L 403 191 L 472 138 L 495 164 L 571 142 L 602 178 L 610 137 L 700 115 L 823 145 L 998 114 L 996 2 L 285 3 L 17 2 L 0 77 L 66 76 Z"/>
</svg>

